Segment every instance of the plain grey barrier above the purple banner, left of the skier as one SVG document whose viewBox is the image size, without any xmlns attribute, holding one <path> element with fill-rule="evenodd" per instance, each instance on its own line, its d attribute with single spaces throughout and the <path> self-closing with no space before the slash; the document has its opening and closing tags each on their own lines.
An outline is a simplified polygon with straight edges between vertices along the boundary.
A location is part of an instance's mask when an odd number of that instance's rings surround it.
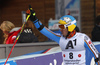
<svg viewBox="0 0 100 65">
<path fill-rule="evenodd" d="M 12 46 L 13 44 L 0 44 L 0 59 L 7 58 Z M 16 43 L 10 57 L 46 50 L 55 46 L 58 46 L 56 42 Z"/>
</svg>

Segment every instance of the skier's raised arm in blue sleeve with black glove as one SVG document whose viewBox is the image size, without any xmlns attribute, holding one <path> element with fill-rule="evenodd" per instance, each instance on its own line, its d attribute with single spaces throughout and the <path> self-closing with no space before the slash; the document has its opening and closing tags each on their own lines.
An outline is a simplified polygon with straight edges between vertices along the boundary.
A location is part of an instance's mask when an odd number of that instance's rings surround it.
<svg viewBox="0 0 100 65">
<path fill-rule="evenodd" d="M 27 15 L 30 15 L 30 20 L 34 23 L 35 27 L 46 37 L 54 40 L 55 42 L 57 42 L 59 44 L 59 40 L 60 40 L 60 35 L 55 34 L 54 32 L 52 32 L 51 30 L 49 30 L 48 28 L 46 28 L 40 21 L 39 19 L 36 17 L 35 12 L 32 10 L 31 6 L 29 7 L 29 9 L 26 11 Z"/>
</svg>

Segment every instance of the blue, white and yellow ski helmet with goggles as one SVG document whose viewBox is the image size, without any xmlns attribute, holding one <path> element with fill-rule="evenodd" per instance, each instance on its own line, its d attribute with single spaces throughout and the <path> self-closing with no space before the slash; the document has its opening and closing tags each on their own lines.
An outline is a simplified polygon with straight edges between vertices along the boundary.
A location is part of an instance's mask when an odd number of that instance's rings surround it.
<svg viewBox="0 0 100 65">
<path fill-rule="evenodd" d="M 76 19 L 71 15 L 62 16 L 58 22 L 59 28 L 65 29 L 68 27 L 68 31 L 72 32 L 76 27 Z"/>
</svg>

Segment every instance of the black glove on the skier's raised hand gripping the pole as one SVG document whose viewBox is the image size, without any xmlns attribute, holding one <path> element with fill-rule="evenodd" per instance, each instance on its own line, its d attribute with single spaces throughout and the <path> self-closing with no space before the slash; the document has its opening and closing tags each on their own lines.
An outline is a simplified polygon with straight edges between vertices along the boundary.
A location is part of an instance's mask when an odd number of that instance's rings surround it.
<svg viewBox="0 0 100 65">
<path fill-rule="evenodd" d="M 33 21 L 33 23 L 35 23 L 36 20 L 38 20 L 36 17 L 35 11 L 33 11 L 30 5 L 29 5 L 29 9 L 26 11 L 26 14 L 30 15 L 30 20 Z"/>
</svg>

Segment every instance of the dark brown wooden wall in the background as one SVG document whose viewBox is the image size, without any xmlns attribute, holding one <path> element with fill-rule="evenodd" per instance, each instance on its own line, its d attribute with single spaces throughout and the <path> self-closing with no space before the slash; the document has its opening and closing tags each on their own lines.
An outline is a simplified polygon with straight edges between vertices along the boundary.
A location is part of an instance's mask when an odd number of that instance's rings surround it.
<svg viewBox="0 0 100 65">
<path fill-rule="evenodd" d="M 81 32 L 91 38 L 91 31 L 94 27 L 94 18 L 100 14 L 100 0 L 81 1 Z M 48 20 L 55 19 L 55 0 L 0 0 L 0 24 L 9 20 L 16 27 L 22 26 L 22 11 L 28 9 L 29 4 L 35 10 L 37 17 L 48 27 Z M 34 30 L 39 41 L 47 41 L 48 38 L 42 35 L 37 29 Z M 0 30 L 0 43 L 3 42 L 3 33 Z"/>
</svg>

